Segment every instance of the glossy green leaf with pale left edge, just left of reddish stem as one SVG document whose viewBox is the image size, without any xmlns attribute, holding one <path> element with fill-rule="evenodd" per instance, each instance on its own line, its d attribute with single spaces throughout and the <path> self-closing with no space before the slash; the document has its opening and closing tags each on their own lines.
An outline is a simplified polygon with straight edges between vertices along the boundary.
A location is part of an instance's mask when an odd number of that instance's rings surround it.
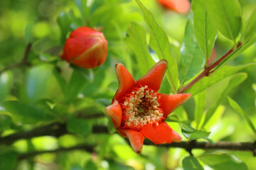
<svg viewBox="0 0 256 170">
<path fill-rule="evenodd" d="M 184 38 L 181 42 L 181 61 L 178 69 L 181 85 L 203 69 L 206 57 L 203 55 L 193 28 L 193 13 L 188 17 Z"/>
</svg>

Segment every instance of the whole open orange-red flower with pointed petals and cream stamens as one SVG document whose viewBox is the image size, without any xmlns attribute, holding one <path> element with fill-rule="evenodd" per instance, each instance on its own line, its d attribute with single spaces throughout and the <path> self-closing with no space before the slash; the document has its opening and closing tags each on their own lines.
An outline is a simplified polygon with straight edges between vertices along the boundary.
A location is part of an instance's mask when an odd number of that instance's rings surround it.
<svg viewBox="0 0 256 170">
<path fill-rule="evenodd" d="M 112 119 L 117 132 L 129 138 L 136 153 L 142 152 L 145 137 L 156 145 L 181 142 L 181 137 L 164 120 L 191 94 L 157 93 L 166 67 L 166 60 L 161 60 L 144 77 L 134 81 L 123 64 L 117 63 L 115 66 L 119 88 L 105 112 Z"/>
</svg>

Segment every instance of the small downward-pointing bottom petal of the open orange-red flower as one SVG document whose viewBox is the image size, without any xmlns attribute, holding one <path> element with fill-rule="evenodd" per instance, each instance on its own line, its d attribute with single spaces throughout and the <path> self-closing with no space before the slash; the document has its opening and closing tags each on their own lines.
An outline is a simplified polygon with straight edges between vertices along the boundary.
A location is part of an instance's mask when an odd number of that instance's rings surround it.
<svg viewBox="0 0 256 170">
<path fill-rule="evenodd" d="M 132 149 L 137 154 L 142 152 L 144 135 L 142 133 L 135 130 L 123 130 L 125 135 L 129 138 L 129 142 L 131 144 Z"/>
</svg>

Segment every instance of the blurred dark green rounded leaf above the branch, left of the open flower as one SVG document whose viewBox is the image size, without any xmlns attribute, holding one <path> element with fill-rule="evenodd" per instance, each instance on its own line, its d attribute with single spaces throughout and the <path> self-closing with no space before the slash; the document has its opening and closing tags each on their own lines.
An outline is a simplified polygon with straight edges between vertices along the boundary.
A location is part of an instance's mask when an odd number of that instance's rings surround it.
<svg viewBox="0 0 256 170">
<path fill-rule="evenodd" d="M 87 137 L 92 133 L 92 123 L 90 120 L 83 120 L 71 116 L 68 120 L 67 128 L 69 132 L 73 132 L 81 137 Z"/>
</svg>

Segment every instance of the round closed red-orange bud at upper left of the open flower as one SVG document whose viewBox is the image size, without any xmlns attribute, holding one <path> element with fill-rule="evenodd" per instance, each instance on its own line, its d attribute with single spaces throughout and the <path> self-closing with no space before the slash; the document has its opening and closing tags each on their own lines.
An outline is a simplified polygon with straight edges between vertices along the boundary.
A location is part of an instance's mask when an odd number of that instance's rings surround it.
<svg viewBox="0 0 256 170">
<path fill-rule="evenodd" d="M 61 58 L 85 69 L 99 67 L 107 58 L 107 40 L 97 30 L 77 28 L 66 40 Z"/>
</svg>

